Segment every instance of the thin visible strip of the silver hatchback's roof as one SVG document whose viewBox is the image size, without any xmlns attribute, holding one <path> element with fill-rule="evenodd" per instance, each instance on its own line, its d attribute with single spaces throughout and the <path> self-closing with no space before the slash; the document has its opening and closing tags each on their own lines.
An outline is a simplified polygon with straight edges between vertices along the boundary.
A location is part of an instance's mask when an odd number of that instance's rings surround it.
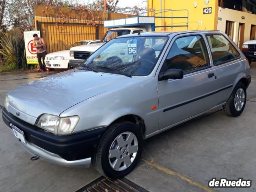
<svg viewBox="0 0 256 192">
<path fill-rule="evenodd" d="M 157 32 L 144 32 L 138 34 L 128 34 L 128 35 L 122 35 L 118 36 L 116 38 L 122 38 L 126 36 L 169 36 L 171 34 L 178 35 L 178 34 L 190 34 L 190 33 L 223 33 L 221 31 L 216 30 L 193 30 L 193 31 L 157 31 Z"/>
</svg>

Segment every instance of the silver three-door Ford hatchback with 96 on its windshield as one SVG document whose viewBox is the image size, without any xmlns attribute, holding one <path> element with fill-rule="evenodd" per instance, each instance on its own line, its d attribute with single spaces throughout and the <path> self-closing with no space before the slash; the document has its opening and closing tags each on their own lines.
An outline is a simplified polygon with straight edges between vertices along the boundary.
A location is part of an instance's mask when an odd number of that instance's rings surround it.
<svg viewBox="0 0 256 192">
<path fill-rule="evenodd" d="M 220 106 L 239 116 L 250 81 L 248 61 L 222 32 L 132 34 L 74 70 L 8 92 L 2 117 L 30 154 L 93 162 L 120 178 L 136 166 L 142 140 Z"/>
</svg>

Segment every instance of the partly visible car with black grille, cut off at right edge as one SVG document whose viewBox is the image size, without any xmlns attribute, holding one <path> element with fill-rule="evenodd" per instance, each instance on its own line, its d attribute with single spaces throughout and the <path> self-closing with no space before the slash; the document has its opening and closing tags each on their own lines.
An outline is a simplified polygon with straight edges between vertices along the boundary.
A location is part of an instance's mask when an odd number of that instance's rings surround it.
<svg viewBox="0 0 256 192">
<path fill-rule="evenodd" d="M 256 40 L 250 40 L 244 42 L 242 45 L 242 52 L 249 60 L 249 64 L 256 61 Z"/>
</svg>

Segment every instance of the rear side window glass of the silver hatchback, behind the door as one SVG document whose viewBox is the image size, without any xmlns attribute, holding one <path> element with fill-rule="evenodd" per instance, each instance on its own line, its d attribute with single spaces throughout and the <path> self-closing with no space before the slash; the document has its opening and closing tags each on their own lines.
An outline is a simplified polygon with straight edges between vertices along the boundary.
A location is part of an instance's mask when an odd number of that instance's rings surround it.
<svg viewBox="0 0 256 192">
<path fill-rule="evenodd" d="M 240 54 L 223 35 L 208 35 L 214 65 L 240 58 Z"/>
</svg>

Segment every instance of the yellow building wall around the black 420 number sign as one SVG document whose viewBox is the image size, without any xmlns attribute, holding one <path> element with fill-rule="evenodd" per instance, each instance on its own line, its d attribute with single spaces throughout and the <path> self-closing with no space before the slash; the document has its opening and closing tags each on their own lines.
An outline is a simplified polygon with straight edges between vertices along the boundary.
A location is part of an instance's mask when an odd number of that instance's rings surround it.
<svg viewBox="0 0 256 192">
<path fill-rule="evenodd" d="M 209 0 L 209 4 L 205 4 L 205 0 L 162 0 L 162 10 L 188 10 L 188 30 L 216 30 L 217 29 L 217 14 L 218 14 L 218 0 Z M 211 14 L 203 14 L 203 8 L 212 8 Z M 148 8 L 153 8 L 156 13 L 161 10 L 161 0 L 148 0 Z M 173 14 L 173 15 L 171 15 Z M 160 14 L 156 14 L 160 16 Z M 162 16 L 186 16 L 185 11 L 164 12 Z M 187 19 L 171 18 L 156 19 L 156 26 L 170 26 L 170 25 L 186 25 Z M 156 28 L 159 30 L 187 30 L 186 27 L 170 27 Z"/>
</svg>

